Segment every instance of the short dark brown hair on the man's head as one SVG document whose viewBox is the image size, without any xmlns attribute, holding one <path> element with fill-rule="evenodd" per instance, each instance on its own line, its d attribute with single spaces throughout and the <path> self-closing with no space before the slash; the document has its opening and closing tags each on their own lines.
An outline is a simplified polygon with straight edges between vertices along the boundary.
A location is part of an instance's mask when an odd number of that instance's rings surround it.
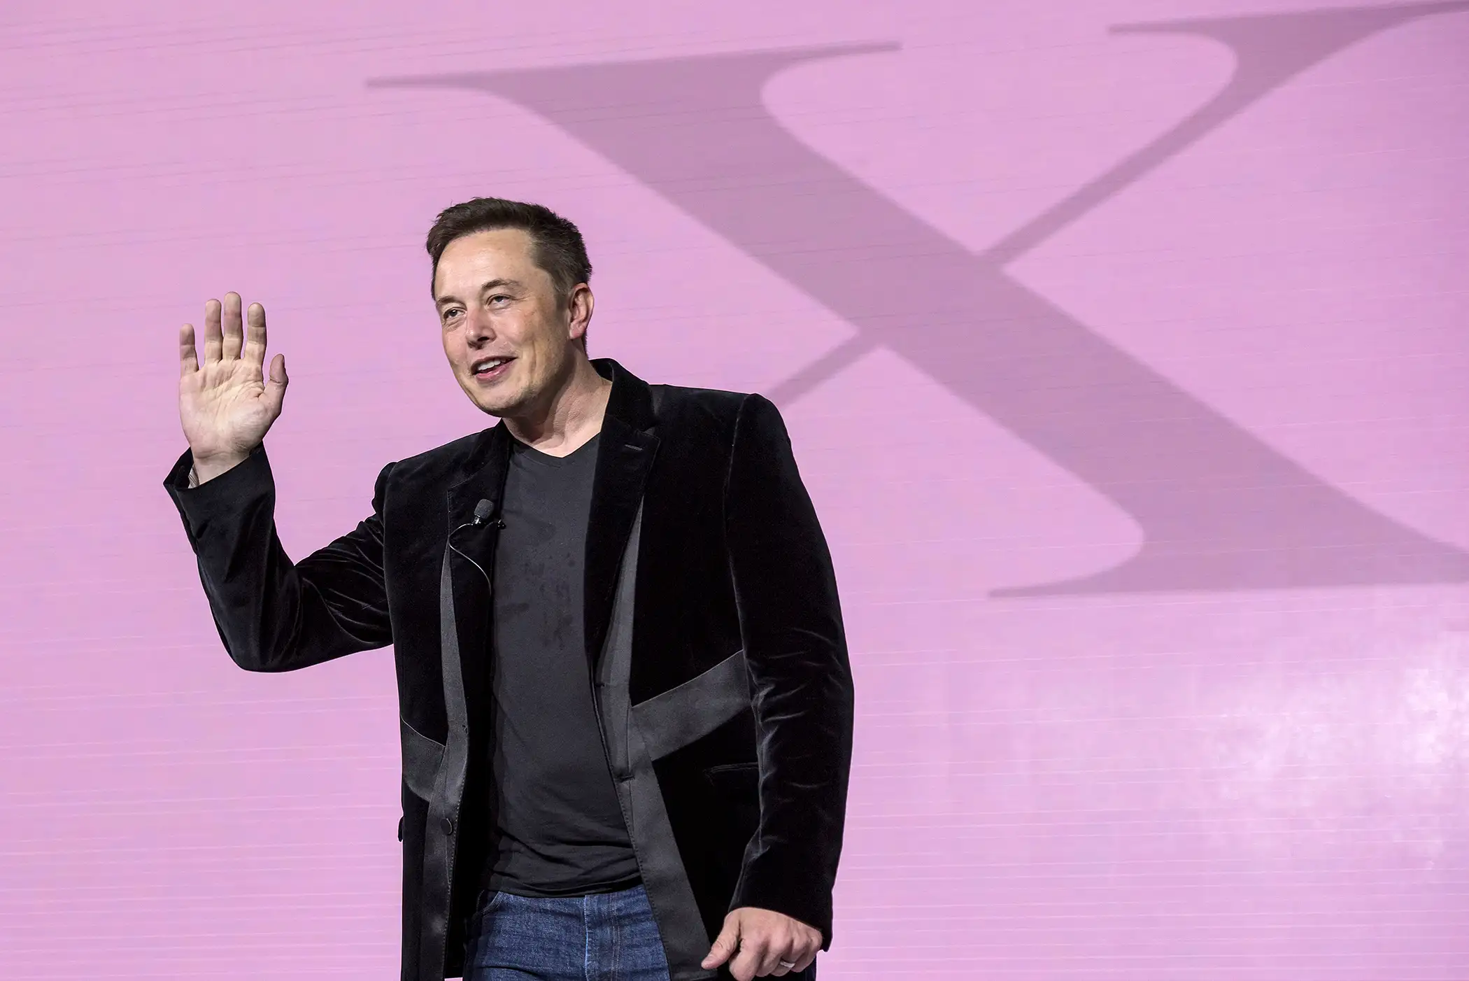
<svg viewBox="0 0 1469 981">
<path fill-rule="evenodd" d="M 555 283 L 557 300 L 566 303 L 577 283 L 592 279 L 592 263 L 586 258 L 582 232 L 551 209 L 505 198 L 470 198 L 454 204 L 433 220 L 426 247 L 433 260 L 429 272 L 429 294 L 439 273 L 439 257 L 457 238 L 499 228 L 519 228 L 535 242 L 535 263 L 546 270 Z"/>
</svg>

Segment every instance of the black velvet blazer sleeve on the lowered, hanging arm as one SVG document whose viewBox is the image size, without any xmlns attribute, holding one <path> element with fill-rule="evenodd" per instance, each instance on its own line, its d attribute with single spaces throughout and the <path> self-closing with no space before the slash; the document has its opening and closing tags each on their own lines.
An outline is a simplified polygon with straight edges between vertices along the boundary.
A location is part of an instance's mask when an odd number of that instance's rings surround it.
<svg viewBox="0 0 1469 981">
<path fill-rule="evenodd" d="M 759 753 L 759 827 L 737 906 L 831 943 L 852 761 L 852 670 L 836 574 L 780 411 L 749 395 L 734 424 L 726 523 Z"/>
</svg>

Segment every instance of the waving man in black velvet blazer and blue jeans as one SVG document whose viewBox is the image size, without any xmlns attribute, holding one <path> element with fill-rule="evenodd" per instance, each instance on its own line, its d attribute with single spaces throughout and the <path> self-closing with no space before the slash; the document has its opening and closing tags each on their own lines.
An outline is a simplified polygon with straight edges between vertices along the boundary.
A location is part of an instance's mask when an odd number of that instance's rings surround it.
<svg viewBox="0 0 1469 981">
<path fill-rule="evenodd" d="M 814 977 L 852 739 L 826 540 L 776 407 L 592 361 L 576 226 L 474 198 L 427 238 L 444 352 L 499 423 L 383 467 L 300 562 L 260 304 L 179 335 L 166 479 L 245 670 L 394 645 L 403 972 Z"/>
</svg>

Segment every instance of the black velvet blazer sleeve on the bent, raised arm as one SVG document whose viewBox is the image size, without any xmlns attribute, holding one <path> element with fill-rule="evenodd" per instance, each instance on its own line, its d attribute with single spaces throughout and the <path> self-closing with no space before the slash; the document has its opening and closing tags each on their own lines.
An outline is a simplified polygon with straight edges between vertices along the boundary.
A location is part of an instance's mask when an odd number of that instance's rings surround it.
<svg viewBox="0 0 1469 981">
<path fill-rule="evenodd" d="M 383 582 L 382 507 L 392 464 L 378 476 L 372 517 L 292 562 L 275 526 L 264 448 L 190 488 L 190 452 L 163 486 L 198 560 L 214 626 L 247 671 L 292 671 L 392 643 Z"/>
</svg>

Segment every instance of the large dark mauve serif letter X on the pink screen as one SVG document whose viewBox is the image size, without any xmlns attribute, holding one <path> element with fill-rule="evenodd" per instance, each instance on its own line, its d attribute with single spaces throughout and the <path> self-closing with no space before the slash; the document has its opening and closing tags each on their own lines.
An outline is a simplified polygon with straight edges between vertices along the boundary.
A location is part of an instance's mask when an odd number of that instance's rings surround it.
<svg viewBox="0 0 1469 981">
<path fill-rule="evenodd" d="M 1005 267 L 1306 68 L 1390 26 L 1469 3 L 1118 28 L 1232 48 L 1228 85 L 1147 147 L 974 254 L 801 144 L 761 90 L 845 46 L 435 75 L 563 126 L 856 327 L 771 395 L 809 391 L 887 347 L 1111 498 L 1141 549 L 1077 580 L 999 595 L 1460 582 L 1469 555 L 1349 498 L 1138 363 Z M 874 282 L 942 298 L 921 322 Z M 886 305 L 884 305 L 886 304 Z"/>
</svg>

